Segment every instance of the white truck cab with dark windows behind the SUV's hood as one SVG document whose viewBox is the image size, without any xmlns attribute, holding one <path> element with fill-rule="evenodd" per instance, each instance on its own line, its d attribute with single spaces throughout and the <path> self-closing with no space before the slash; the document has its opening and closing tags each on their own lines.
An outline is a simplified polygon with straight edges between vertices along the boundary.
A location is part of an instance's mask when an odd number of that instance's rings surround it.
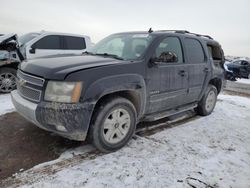
<svg viewBox="0 0 250 188">
<path fill-rule="evenodd" d="M 25 59 L 62 54 L 82 54 L 91 46 L 90 37 L 67 33 L 28 33 L 19 39 Z"/>
</svg>

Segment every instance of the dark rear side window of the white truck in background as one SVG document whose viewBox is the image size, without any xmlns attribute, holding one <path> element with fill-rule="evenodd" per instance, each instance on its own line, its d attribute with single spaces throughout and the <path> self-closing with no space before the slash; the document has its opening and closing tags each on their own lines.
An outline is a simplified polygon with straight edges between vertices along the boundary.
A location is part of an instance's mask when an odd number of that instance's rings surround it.
<svg viewBox="0 0 250 188">
<path fill-rule="evenodd" d="M 85 40 L 82 37 L 64 36 L 65 49 L 67 50 L 83 50 L 86 48 Z"/>
</svg>

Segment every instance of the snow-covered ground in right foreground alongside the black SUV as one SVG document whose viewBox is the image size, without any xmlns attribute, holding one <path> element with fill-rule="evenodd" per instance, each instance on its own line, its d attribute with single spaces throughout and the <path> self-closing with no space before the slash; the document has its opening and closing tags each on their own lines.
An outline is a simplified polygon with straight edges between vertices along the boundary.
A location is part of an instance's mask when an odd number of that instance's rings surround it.
<svg viewBox="0 0 250 188">
<path fill-rule="evenodd" d="M 135 138 L 115 153 L 55 174 L 33 174 L 31 169 L 20 177 L 37 180 L 24 187 L 250 187 L 249 98 L 220 95 L 210 116 Z M 70 150 L 56 161 L 85 152 L 85 147 Z M 48 164 L 53 161 L 33 169 Z"/>
</svg>

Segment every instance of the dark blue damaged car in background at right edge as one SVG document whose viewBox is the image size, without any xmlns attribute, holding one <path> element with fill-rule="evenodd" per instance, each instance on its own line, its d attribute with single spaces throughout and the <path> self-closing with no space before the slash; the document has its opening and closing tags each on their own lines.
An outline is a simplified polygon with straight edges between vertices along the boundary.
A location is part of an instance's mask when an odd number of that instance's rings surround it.
<svg viewBox="0 0 250 188">
<path fill-rule="evenodd" d="M 250 79 L 250 62 L 247 60 L 236 60 L 225 63 L 226 78 L 236 81 L 236 78 Z"/>
</svg>

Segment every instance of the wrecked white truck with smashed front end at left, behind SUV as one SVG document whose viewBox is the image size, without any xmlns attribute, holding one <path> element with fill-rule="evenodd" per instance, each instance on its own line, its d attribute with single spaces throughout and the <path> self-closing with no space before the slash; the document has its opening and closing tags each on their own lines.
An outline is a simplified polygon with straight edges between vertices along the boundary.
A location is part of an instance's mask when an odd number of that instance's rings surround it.
<svg viewBox="0 0 250 188">
<path fill-rule="evenodd" d="M 23 60 L 50 55 L 79 55 L 92 45 L 90 37 L 56 32 L 33 32 L 18 37 L 0 36 L 0 92 L 16 88 L 17 66 Z"/>
</svg>

